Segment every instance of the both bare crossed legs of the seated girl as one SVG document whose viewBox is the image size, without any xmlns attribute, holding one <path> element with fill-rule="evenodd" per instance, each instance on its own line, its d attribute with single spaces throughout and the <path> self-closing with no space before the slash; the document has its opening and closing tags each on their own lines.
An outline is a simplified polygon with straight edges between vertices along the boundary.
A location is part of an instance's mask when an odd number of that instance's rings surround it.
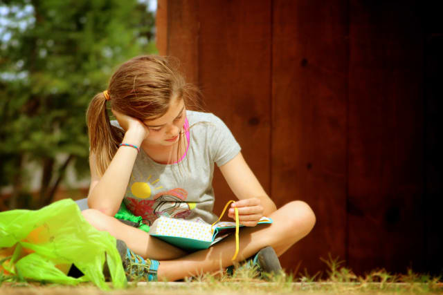
<svg viewBox="0 0 443 295">
<path fill-rule="evenodd" d="M 82 212 L 84 217 L 99 230 L 124 240 L 132 251 L 144 258 L 160 260 L 159 280 L 179 280 L 186 276 L 213 272 L 220 267 L 233 264 L 230 259 L 235 251 L 233 235 L 218 242 L 209 249 L 186 254 L 183 250 L 166 242 L 150 237 L 149 234 L 129 227 L 100 211 L 88 209 Z M 309 234 L 316 218 L 308 204 L 293 201 L 285 204 L 269 216 L 271 225 L 244 227 L 239 235 L 239 254 L 236 261 L 242 261 L 266 246 L 272 246 L 278 256 L 287 251 L 298 240 Z"/>
</svg>

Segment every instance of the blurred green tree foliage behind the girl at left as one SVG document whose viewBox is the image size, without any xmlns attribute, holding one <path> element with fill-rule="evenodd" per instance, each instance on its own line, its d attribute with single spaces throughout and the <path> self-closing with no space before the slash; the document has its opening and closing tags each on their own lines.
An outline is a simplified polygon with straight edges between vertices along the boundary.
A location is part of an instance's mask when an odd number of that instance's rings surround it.
<svg viewBox="0 0 443 295">
<path fill-rule="evenodd" d="M 23 194 L 36 161 L 47 203 L 69 162 L 88 170 L 87 105 L 118 64 L 155 50 L 154 15 L 136 0 L 12 0 L 0 12 L 0 187 Z"/>
</svg>

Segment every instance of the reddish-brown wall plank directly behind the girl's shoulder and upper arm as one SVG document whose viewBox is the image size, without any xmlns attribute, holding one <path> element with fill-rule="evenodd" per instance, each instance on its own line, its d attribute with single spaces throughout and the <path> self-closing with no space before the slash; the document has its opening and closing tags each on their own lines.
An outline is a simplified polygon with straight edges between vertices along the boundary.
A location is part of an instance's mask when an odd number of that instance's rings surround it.
<svg viewBox="0 0 443 295">
<path fill-rule="evenodd" d="M 269 193 L 271 1 L 199 1 L 199 78 L 207 109 L 221 117 Z M 215 171 L 215 212 L 235 196 Z"/>
</svg>

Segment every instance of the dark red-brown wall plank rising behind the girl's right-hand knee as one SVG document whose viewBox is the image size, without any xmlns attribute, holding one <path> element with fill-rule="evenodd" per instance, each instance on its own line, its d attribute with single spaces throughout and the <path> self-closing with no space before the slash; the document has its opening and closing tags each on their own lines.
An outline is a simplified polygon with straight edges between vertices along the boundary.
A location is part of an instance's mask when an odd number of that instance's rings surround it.
<svg viewBox="0 0 443 295">
<path fill-rule="evenodd" d="M 347 1 L 273 1 L 271 194 L 307 202 L 313 231 L 282 256 L 311 275 L 345 259 Z"/>
</svg>

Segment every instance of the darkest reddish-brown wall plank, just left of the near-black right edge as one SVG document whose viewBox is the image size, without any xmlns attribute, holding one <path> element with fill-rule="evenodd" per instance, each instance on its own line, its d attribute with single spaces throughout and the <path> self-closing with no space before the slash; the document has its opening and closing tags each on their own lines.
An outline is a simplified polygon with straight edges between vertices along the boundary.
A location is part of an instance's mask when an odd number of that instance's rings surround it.
<svg viewBox="0 0 443 295">
<path fill-rule="evenodd" d="M 423 50 L 414 1 L 350 1 L 349 263 L 423 261 Z"/>
</svg>

